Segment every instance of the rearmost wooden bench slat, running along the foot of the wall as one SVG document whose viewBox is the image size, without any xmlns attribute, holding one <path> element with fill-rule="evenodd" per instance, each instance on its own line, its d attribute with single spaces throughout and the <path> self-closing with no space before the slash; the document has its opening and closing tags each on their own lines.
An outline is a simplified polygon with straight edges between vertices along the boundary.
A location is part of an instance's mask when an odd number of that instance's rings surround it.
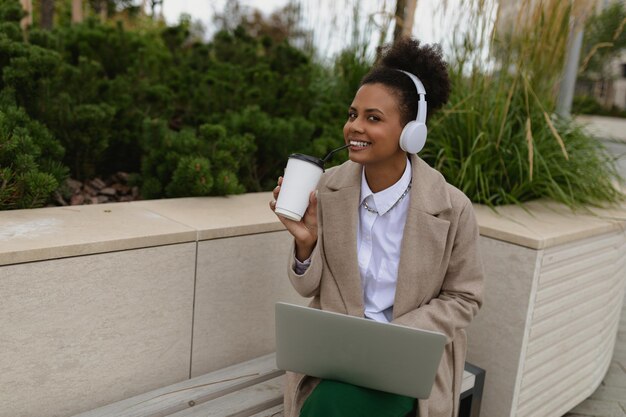
<svg viewBox="0 0 626 417">
<path fill-rule="evenodd" d="M 167 416 L 189 408 L 190 401 L 195 404 L 209 401 L 282 373 L 283 371 L 276 370 L 276 355 L 272 353 L 86 411 L 75 417 Z"/>
</svg>

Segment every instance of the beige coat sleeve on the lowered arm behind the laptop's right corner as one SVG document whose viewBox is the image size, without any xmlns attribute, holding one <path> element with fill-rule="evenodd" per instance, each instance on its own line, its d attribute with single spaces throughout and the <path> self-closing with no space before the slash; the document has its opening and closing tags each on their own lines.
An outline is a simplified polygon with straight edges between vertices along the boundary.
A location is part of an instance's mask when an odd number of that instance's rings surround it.
<svg viewBox="0 0 626 417">
<path fill-rule="evenodd" d="M 467 327 L 482 305 L 483 267 L 478 238 L 474 210 L 466 200 L 439 295 L 395 318 L 393 323 L 443 333 L 448 343 L 458 330 Z"/>
</svg>

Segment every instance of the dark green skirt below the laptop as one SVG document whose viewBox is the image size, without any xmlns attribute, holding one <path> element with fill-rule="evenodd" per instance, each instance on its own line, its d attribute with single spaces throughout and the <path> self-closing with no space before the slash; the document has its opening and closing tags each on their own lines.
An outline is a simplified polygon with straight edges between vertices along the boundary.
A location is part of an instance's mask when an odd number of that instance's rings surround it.
<svg viewBox="0 0 626 417">
<path fill-rule="evenodd" d="M 417 400 L 343 382 L 322 380 L 306 399 L 300 417 L 415 416 Z"/>
</svg>

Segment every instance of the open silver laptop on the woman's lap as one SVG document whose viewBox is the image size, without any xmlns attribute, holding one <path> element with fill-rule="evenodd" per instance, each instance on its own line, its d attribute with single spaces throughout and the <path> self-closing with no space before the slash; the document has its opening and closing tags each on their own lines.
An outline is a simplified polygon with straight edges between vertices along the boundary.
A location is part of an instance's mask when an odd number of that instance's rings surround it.
<svg viewBox="0 0 626 417">
<path fill-rule="evenodd" d="M 428 398 L 446 338 L 441 333 L 276 303 L 279 369 Z"/>
</svg>

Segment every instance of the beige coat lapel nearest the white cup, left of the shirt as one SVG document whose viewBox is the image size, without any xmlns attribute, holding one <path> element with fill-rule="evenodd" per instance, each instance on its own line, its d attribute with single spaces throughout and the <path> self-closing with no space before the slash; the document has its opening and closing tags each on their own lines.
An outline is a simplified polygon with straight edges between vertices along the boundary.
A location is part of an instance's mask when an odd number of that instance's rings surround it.
<svg viewBox="0 0 626 417">
<path fill-rule="evenodd" d="M 363 289 L 356 253 L 361 166 L 348 163 L 326 184 L 320 199 L 324 225 L 324 253 L 337 282 L 346 313 L 363 317 Z"/>
</svg>

